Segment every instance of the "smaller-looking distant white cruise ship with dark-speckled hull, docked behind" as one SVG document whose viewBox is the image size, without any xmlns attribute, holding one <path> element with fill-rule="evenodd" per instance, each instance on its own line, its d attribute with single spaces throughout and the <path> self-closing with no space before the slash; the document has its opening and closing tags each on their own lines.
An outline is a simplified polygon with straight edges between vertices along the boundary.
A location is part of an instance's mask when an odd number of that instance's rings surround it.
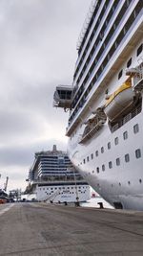
<svg viewBox="0 0 143 256">
<path fill-rule="evenodd" d="M 29 172 L 28 199 L 47 202 L 87 201 L 91 198 L 89 184 L 73 168 L 64 151 L 39 151 Z"/>
</svg>

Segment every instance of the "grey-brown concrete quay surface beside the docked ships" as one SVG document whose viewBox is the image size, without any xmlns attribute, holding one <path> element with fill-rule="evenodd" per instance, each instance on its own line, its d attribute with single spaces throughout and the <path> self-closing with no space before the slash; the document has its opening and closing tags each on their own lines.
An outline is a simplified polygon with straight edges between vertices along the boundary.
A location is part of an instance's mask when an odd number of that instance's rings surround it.
<svg viewBox="0 0 143 256">
<path fill-rule="evenodd" d="M 0 255 L 143 255 L 143 212 L 0 205 Z"/>
</svg>

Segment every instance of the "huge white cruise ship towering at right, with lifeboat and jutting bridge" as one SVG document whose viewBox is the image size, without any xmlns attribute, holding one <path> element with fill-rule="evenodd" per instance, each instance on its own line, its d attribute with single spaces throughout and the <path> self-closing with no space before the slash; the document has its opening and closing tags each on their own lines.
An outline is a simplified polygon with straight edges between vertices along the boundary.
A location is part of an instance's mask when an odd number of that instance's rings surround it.
<svg viewBox="0 0 143 256">
<path fill-rule="evenodd" d="M 143 1 L 92 1 L 77 51 L 53 96 L 72 164 L 115 208 L 143 210 Z"/>
</svg>

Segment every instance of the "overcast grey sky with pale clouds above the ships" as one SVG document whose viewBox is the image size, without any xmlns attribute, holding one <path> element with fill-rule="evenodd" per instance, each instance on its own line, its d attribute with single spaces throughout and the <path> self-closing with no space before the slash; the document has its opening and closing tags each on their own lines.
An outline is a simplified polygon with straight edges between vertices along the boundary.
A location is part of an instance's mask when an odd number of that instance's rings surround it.
<svg viewBox="0 0 143 256">
<path fill-rule="evenodd" d="M 91 0 L 0 0 L 0 185 L 26 187 L 34 152 L 66 150 L 68 114 L 52 107 L 72 84 L 76 42 Z"/>
</svg>

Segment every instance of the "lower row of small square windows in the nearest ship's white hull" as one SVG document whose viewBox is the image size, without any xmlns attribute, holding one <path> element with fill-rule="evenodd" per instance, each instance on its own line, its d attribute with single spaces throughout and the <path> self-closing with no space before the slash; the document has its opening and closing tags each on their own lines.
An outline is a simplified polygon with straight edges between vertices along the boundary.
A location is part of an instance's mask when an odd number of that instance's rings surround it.
<svg viewBox="0 0 143 256">
<path fill-rule="evenodd" d="M 140 149 L 137 149 L 137 150 L 135 151 L 135 157 L 136 157 L 137 159 L 141 157 L 141 150 L 140 150 Z M 126 162 L 126 163 L 130 162 L 130 154 L 129 154 L 129 153 L 126 153 L 126 154 L 124 155 L 124 158 L 125 158 L 125 162 Z M 121 164 L 120 157 L 117 157 L 117 158 L 115 159 L 115 164 L 116 164 L 116 166 L 120 166 L 120 164 Z M 108 163 L 108 168 L 109 168 L 109 169 L 112 169 L 112 161 L 110 161 L 110 162 Z M 104 172 L 105 169 L 106 169 L 106 168 L 105 168 L 105 164 L 103 164 L 102 167 L 101 167 L 101 170 Z M 97 174 L 99 173 L 99 167 L 96 168 L 96 173 L 97 173 Z M 94 171 L 92 171 L 92 174 L 94 174 Z"/>
</svg>

